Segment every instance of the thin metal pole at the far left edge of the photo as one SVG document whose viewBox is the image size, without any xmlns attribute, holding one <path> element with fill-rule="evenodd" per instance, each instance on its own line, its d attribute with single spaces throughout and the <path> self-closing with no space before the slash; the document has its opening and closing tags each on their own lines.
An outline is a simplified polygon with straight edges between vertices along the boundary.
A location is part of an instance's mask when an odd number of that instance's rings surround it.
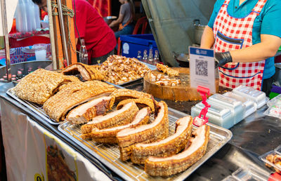
<svg viewBox="0 0 281 181">
<path fill-rule="evenodd" d="M 8 24 L 7 24 L 7 10 L 6 10 L 6 0 L 1 0 L 1 8 L 2 8 L 2 25 L 3 25 L 3 33 L 4 33 L 4 41 L 5 41 L 5 49 L 6 49 L 6 73 L 7 80 L 11 82 L 11 59 L 10 59 L 10 46 L 8 41 Z"/>
</svg>

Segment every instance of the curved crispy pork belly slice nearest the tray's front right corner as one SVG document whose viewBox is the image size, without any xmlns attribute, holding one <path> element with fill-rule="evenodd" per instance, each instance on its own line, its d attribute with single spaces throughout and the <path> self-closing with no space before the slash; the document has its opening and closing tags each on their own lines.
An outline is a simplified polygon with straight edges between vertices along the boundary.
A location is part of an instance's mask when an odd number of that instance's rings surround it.
<svg viewBox="0 0 281 181">
<path fill-rule="evenodd" d="M 204 156 L 209 141 L 209 126 L 197 128 L 191 145 L 179 154 L 169 157 L 150 156 L 145 160 L 145 172 L 152 176 L 169 176 L 186 170 Z"/>
</svg>

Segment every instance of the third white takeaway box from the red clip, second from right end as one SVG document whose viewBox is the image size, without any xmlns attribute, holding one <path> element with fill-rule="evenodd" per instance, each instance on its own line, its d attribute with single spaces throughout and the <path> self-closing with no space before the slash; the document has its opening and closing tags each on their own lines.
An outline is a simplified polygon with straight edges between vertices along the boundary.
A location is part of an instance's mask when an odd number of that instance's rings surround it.
<svg viewBox="0 0 281 181">
<path fill-rule="evenodd" d="M 237 101 L 242 102 L 242 106 L 244 109 L 243 119 L 249 116 L 250 114 L 256 112 L 256 104 L 247 98 L 242 97 L 241 95 L 237 95 L 232 92 L 224 93 L 223 95 L 227 96 L 228 98 L 233 98 Z"/>
</svg>

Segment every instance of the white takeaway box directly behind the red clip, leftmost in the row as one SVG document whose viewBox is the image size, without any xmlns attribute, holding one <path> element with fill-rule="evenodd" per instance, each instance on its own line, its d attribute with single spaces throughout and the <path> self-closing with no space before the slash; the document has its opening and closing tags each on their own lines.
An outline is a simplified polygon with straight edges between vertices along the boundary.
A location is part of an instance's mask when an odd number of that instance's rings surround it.
<svg viewBox="0 0 281 181">
<path fill-rule="evenodd" d="M 209 103 L 209 105 L 211 104 Z M 202 102 L 199 102 L 197 105 L 193 106 L 191 108 L 191 116 L 193 118 L 195 116 L 198 116 L 204 107 L 205 106 L 202 104 Z M 211 105 L 211 107 L 209 107 L 208 109 L 206 116 L 209 118 L 210 123 L 214 123 L 223 128 L 229 129 L 234 125 L 234 115 L 230 111 L 230 109 L 225 107 Z"/>
</svg>

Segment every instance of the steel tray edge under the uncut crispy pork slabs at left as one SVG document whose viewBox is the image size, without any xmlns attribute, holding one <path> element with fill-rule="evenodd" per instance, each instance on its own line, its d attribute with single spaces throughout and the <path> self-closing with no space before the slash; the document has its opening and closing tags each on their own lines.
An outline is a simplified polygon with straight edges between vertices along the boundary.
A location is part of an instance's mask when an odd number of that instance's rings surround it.
<svg viewBox="0 0 281 181">
<path fill-rule="evenodd" d="M 51 123 L 52 125 L 58 126 L 60 123 L 62 123 L 62 121 L 57 122 L 54 119 L 51 119 L 46 114 L 46 112 L 44 111 L 42 105 L 38 105 L 38 104 L 35 104 L 33 102 L 29 102 L 27 100 L 22 100 L 22 99 L 18 98 L 18 96 L 16 96 L 15 93 L 13 93 L 13 88 L 10 88 L 9 90 L 7 90 L 6 94 L 11 96 L 13 99 L 17 100 L 18 102 L 20 102 L 22 105 L 24 105 L 28 109 L 32 110 L 32 112 L 34 112 L 38 116 L 41 116 L 42 119 L 44 119 L 45 121 Z"/>
</svg>

